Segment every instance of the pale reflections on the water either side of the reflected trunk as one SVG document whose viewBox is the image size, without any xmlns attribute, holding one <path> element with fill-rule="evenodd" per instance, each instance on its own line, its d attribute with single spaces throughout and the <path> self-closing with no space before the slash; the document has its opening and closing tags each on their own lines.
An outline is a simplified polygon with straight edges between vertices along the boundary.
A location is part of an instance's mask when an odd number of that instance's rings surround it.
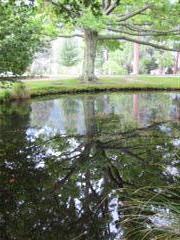
<svg viewBox="0 0 180 240">
<path fill-rule="evenodd" d="M 176 94 L 176 97 L 179 96 Z M 126 99 L 126 100 L 125 100 Z M 179 98 L 174 95 L 126 94 L 99 95 L 94 98 L 95 116 L 117 116 L 117 125 L 147 126 L 153 121 L 168 121 L 178 117 Z M 87 111 L 83 97 L 60 98 L 31 104 L 30 128 L 27 136 L 31 141 L 42 135 L 69 135 L 87 133 Z M 161 126 L 162 131 L 170 131 Z"/>
</svg>

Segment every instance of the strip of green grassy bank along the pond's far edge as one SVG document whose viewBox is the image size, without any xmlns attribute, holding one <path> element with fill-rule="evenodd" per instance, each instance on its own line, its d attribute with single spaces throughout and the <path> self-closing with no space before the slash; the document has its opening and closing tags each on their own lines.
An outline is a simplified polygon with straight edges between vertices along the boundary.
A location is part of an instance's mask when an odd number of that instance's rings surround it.
<svg viewBox="0 0 180 240">
<path fill-rule="evenodd" d="M 58 93 L 98 92 L 118 90 L 180 90 L 180 77 L 127 76 L 81 83 L 78 79 L 26 80 L 8 88 L 0 85 L 0 101 L 23 99 Z"/>
</svg>

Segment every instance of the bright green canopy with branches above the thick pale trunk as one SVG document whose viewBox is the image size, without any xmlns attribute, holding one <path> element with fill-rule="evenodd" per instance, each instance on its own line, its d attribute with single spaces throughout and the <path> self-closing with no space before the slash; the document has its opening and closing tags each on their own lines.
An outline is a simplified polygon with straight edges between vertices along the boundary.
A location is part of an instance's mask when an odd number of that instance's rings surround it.
<svg viewBox="0 0 180 240">
<path fill-rule="evenodd" d="M 48 2 L 53 5 L 61 22 L 73 26 L 74 29 L 97 31 L 99 40 L 135 41 L 158 48 L 158 45 L 149 43 L 149 40 L 163 42 L 170 38 L 179 39 L 178 1 L 151 0 L 148 4 L 145 0 L 48 0 Z M 136 36 L 146 37 L 145 41 L 133 38 Z"/>
</svg>

